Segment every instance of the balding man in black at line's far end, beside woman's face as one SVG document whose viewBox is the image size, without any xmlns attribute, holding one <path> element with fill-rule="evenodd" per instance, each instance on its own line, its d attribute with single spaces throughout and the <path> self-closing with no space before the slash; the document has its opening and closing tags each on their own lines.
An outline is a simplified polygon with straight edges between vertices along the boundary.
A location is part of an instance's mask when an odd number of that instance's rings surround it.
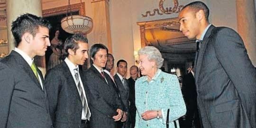
<svg viewBox="0 0 256 128">
<path fill-rule="evenodd" d="M 129 85 L 129 114 L 130 114 L 130 120 L 131 120 L 131 128 L 135 127 L 135 117 L 136 117 L 136 106 L 135 106 L 135 81 L 138 79 L 138 67 L 136 65 L 132 65 L 130 67 L 130 78 L 128 79 L 128 85 Z"/>
</svg>

